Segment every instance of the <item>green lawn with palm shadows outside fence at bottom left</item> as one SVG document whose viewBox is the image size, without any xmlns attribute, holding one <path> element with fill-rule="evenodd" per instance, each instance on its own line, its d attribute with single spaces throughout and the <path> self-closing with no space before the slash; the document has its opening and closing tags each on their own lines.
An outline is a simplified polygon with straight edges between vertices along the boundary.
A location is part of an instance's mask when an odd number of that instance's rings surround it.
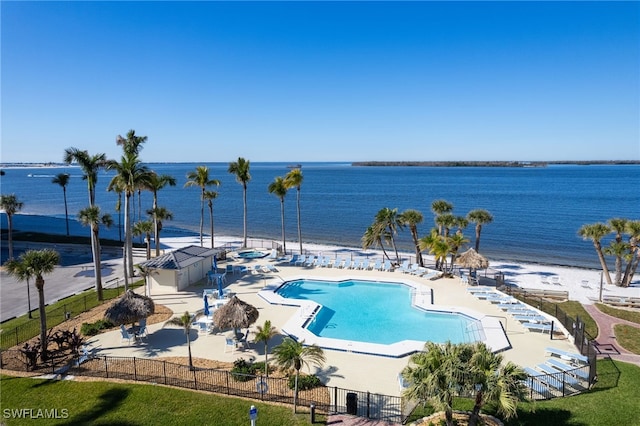
<svg viewBox="0 0 640 426">
<path fill-rule="evenodd" d="M 74 425 L 225 425 L 249 424 L 249 408 L 258 409 L 257 424 L 308 425 L 309 414 L 293 414 L 291 406 L 191 392 L 164 386 L 111 382 L 73 382 L 2 376 L 2 421 L 32 425 L 34 419 L 7 418 L 7 409 L 57 409 L 68 418 L 41 424 Z M 303 408 L 304 409 L 304 408 Z M 324 417 L 316 416 L 316 421 Z"/>
</svg>

